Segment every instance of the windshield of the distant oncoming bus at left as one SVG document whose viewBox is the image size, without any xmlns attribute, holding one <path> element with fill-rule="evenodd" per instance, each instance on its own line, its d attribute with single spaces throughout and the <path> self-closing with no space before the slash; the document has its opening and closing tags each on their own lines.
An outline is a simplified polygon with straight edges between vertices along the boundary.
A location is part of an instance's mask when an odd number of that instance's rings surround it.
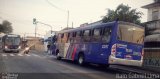
<svg viewBox="0 0 160 79">
<path fill-rule="evenodd" d="M 7 45 L 19 45 L 20 44 L 20 38 L 18 38 L 18 37 L 8 37 L 8 38 L 6 38 L 6 44 Z"/>
</svg>

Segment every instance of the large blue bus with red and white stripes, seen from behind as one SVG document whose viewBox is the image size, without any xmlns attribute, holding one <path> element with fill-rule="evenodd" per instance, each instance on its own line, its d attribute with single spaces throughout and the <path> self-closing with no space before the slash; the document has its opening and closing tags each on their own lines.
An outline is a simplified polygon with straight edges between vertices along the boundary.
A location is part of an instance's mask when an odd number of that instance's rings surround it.
<svg viewBox="0 0 160 79">
<path fill-rule="evenodd" d="M 54 55 L 80 65 L 142 66 L 143 41 L 142 26 L 123 21 L 100 23 L 60 31 Z"/>
</svg>

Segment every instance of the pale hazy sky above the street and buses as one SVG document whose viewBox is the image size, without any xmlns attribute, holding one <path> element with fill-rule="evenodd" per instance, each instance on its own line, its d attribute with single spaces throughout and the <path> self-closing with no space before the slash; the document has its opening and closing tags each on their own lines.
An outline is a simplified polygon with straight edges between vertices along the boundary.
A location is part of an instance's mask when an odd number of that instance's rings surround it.
<svg viewBox="0 0 160 79">
<path fill-rule="evenodd" d="M 67 26 L 69 11 L 69 27 L 79 27 L 83 23 L 92 23 L 102 19 L 107 9 L 116 9 L 123 3 L 132 9 L 143 12 L 142 22 L 147 21 L 147 10 L 143 5 L 153 0 L 0 0 L 0 22 L 8 20 L 12 23 L 13 33 L 33 35 L 37 21 L 52 25 L 55 31 Z M 51 5 L 51 4 L 52 5 Z M 50 27 L 37 24 L 37 33 L 45 35 Z"/>
</svg>

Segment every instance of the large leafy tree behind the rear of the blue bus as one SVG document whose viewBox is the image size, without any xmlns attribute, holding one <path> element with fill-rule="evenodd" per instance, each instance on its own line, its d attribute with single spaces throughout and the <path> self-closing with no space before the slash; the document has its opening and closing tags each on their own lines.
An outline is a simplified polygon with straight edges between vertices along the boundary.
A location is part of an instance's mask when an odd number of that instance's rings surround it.
<svg viewBox="0 0 160 79">
<path fill-rule="evenodd" d="M 131 9 L 128 5 L 120 4 L 116 10 L 108 9 L 108 13 L 103 16 L 102 22 L 114 21 L 117 18 L 119 21 L 131 22 L 135 24 L 141 24 L 142 12 L 137 12 L 137 9 Z"/>
</svg>

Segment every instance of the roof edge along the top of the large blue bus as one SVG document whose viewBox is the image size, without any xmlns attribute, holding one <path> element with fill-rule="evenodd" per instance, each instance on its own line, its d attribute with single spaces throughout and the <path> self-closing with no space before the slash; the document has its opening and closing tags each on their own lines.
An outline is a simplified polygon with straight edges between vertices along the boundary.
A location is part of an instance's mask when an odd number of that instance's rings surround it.
<svg viewBox="0 0 160 79">
<path fill-rule="evenodd" d="M 87 26 L 84 26 L 84 27 L 77 27 L 77 28 L 74 28 L 74 29 L 62 30 L 62 31 L 59 31 L 58 33 L 75 32 L 75 31 L 87 30 L 87 29 L 92 29 L 92 28 L 100 28 L 100 27 L 105 27 L 105 26 L 112 26 L 116 22 L 118 22 L 118 24 L 133 25 L 133 26 L 136 26 L 136 27 L 144 29 L 144 27 L 139 26 L 139 25 L 134 24 L 134 23 L 124 22 L 124 21 L 112 21 L 112 22 L 100 23 L 100 24 L 96 24 L 96 25 L 88 24 Z"/>
</svg>

